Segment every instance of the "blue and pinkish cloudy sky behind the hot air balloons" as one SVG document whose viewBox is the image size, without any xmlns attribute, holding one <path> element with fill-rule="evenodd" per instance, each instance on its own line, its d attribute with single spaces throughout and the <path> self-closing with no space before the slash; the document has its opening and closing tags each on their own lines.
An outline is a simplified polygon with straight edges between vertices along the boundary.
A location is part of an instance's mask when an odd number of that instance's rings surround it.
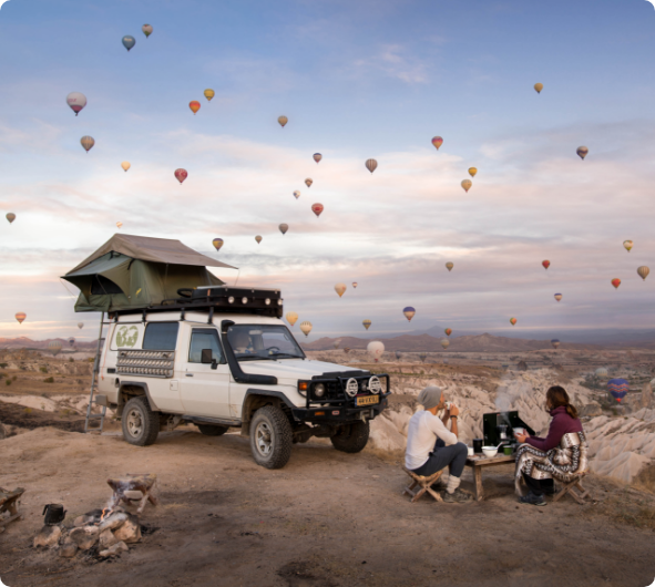
<svg viewBox="0 0 655 587">
<path fill-rule="evenodd" d="M 99 315 L 59 277 L 116 222 L 238 267 L 214 271 L 229 285 L 280 288 L 309 341 L 653 328 L 655 276 L 636 269 L 655 269 L 654 23 L 647 0 L 9 0 L 0 337 L 93 339 Z"/>
</svg>

